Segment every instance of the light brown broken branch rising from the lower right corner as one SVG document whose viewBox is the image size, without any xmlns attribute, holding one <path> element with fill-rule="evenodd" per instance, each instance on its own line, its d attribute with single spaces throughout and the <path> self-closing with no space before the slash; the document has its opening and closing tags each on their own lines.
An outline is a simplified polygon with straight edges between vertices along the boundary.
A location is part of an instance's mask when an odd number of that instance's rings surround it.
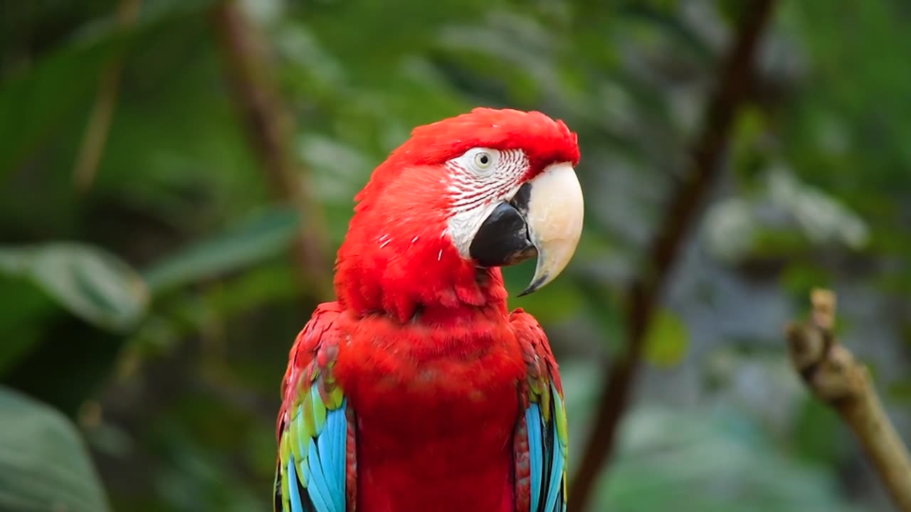
<svg viewBox="0 0 911 512">
<path fill-rule="evenodd" d="M 911 511 L 907 448 L 885 414 L 865 365 L 834 339 L 835 295 L 814 290 L 811 302 L 811 319 L 787 327 L 794 369 L 816 397 L 833 407 L 854 431 L 898 509 Z"/>
</svg>

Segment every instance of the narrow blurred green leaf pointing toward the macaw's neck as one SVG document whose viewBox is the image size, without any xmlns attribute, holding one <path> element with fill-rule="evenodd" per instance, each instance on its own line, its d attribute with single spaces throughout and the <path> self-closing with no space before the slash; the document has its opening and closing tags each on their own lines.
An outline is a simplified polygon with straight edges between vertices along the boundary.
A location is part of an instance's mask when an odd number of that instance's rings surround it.
<svg viewBox="0 0 911 512">
<path fill-rule="evenodd" d="M 291 245 L 300 222 L 297 210 L 267 210 L 234 230 L 159 261 L 144 272 L 146 281 L 158 293 L 249 266 Z"/>
</svg>

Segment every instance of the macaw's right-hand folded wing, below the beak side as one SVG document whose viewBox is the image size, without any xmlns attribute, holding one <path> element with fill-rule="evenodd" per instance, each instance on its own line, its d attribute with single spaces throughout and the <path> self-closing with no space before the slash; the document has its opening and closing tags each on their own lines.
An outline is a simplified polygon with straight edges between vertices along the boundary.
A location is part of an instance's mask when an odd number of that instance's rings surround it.
<svg viewBox="0 0 911 512">
<path fill-rule="evenodd" d="M 525 414 L 519 416 L 514 441 L 516 510 L 562 512 L 567 497 L 567 416 L 557 363 L 548 337 L 533 316 L 521 309 L 510 323 L 525 353 Z"/>
</svg>

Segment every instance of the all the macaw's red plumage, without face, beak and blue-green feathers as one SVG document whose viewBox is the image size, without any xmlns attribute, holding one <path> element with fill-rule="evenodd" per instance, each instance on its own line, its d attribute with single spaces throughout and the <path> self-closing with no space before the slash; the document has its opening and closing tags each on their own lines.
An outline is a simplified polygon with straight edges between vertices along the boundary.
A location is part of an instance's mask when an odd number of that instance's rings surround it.
<svg viewBox="0 0 911 512">
<path fill-rule="evenodd" d="M 522 411 L 529 382 L 559 389 L 557 364 L 534 318 L 507 311 L 499 269 L 477 268 L 446 233 L 442 164 L 474 147 L 523 149 L 524 179 L 578 162 L 575 134 L 537 112 L 476 109 L 416 128 L 358 194 L 338 301 L 292 346 L 279 428 L 301 383 L 331 374 L 349 406 L 349 509 L 528 509 Z"/>
</svg>

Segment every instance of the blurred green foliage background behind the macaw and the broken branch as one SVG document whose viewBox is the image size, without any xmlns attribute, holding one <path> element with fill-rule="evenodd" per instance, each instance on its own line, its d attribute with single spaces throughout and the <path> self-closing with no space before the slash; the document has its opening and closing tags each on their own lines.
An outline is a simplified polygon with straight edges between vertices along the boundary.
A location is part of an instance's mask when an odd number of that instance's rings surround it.
<svg viewBox="0 0 911 512">
<path fill-rule="evenodd" d="M 578 132 L 575 260 L 510 300 L 571 502 L 895 509 L 783 325 L 838 292 L 911 440 L 909 47 L 900 1 L 0 0 L 0 509 L 271 509 L 353 195 L 478 105 Z"/>
</svg>

